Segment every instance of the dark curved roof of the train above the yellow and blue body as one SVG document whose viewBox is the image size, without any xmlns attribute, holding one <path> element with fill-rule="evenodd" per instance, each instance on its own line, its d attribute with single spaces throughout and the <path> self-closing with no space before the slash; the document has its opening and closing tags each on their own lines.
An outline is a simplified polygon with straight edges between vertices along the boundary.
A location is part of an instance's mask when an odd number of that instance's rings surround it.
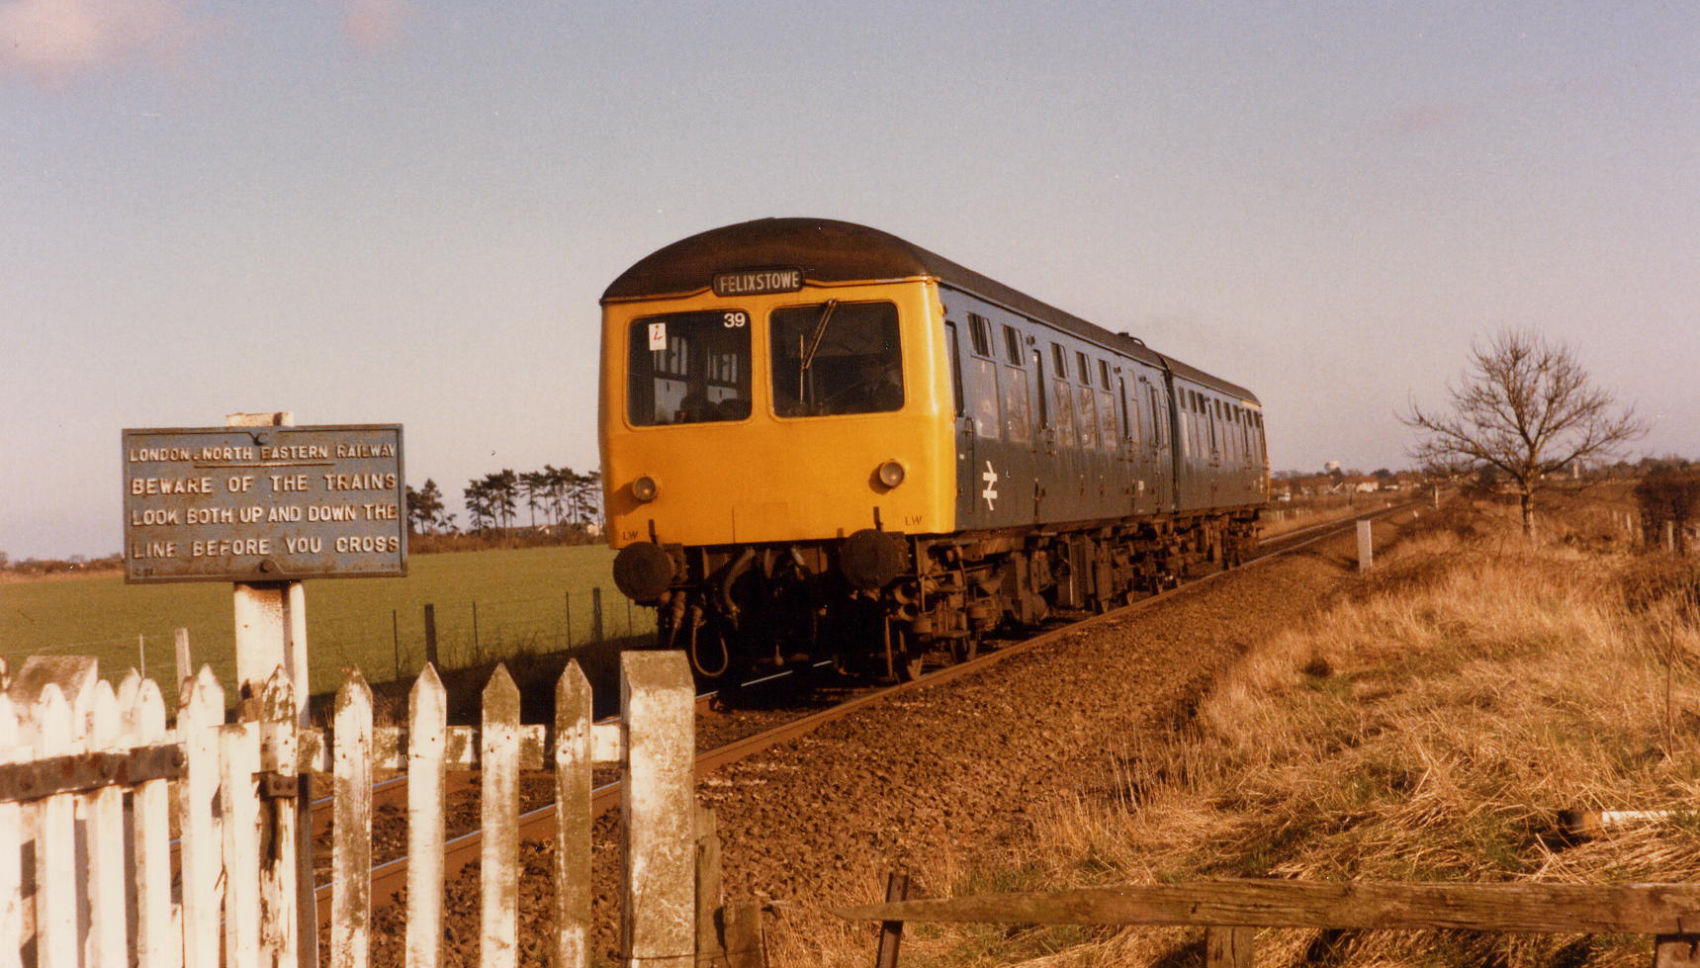
<svg viewBox="0 0 1700 968">
<path fill-rule="evenodd" d="M 762 218 L 711 228 L 661 247 L 639 259 L 602 294 L 604 303 L 656 296 L 685 296 L 709 289 L 717 272 L 755 267 L 797 267 L 809 282 L 858 282 L 930 276 L 940 284 L 1000 303 L 1025 316 L 1049 323 L 1083 340 L 1100 344 L 1153 366 L 1168 366 L 1176 376 L 1202 386 L 1256 401 L 1244 386 L 1210 376 L 1144 340 L 1110 332 L 1096 323 L 1057 310 L 928 252 L 889 231 L 824 218 Z"/>
</svg>

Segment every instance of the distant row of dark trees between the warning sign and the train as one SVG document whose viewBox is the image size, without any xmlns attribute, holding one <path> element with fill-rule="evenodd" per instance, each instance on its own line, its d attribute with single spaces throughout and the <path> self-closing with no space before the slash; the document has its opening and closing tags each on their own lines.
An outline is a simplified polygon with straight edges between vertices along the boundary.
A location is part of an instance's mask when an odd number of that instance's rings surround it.
<svg viewBox="0 0 1700 968">
<path fill-rule="evenodd" d="M 552 464 L 524 473 L 503 468 L 468 480 L 461 497 L 468 532 L 515 527 L 520 507 L 529 512 L 529 527 L 539 526 L 539 514 L 549 526 L 597 524 L 602 517 L 602 473 Z M 418 488 L 408 485 L 408 522 L 418 534 L 461 532 L 456 515 L 444 505 L 442 488 L 430 478 Z"/>
</svg>

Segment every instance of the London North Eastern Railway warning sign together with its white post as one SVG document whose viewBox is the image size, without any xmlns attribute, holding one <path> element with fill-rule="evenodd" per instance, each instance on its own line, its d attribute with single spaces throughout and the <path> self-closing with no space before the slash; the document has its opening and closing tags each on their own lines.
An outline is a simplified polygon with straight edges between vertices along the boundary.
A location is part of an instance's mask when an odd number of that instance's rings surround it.
<svg viewBox="0 0 1700 968">
<path fill-rule="evenodd" d="M 124 430 L 124 580 L 231 582 L 236 680 L 258 699 L 279 667 L 306 721 L 303 578 L 406 575 L 401 425 L 296 427 L 231 413 L 224 427 Z M 286 808 L 282 803 L 279 808 Z M 298 777 L 299 963 L 318 963 L 313 823 Z"/>
</svg>

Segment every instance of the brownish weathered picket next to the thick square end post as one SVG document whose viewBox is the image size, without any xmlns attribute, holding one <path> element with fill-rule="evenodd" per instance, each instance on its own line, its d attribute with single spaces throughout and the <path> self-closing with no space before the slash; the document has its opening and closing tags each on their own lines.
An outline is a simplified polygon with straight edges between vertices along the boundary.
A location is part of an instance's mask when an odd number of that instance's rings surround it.
<svg viewBox="0 0 1700 968">
<path fill-rule="evenodd" d="M 570 660 L 554 684 L 554 965 L 590 968 L 590 680 Z"/>
</svg>

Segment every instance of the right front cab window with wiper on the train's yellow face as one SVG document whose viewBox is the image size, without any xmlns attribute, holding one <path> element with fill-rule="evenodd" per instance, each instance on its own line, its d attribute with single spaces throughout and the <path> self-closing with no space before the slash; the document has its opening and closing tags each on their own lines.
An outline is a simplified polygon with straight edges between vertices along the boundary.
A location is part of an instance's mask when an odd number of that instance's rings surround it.
<svg viewBox="0 0 1700 968">
<path fill-rule="evenodd" d="M 774 412 L 780 417 L 903 408 L 903 356 L 892 303 L 813 303 L 774 310 Z"/>
</svg>

